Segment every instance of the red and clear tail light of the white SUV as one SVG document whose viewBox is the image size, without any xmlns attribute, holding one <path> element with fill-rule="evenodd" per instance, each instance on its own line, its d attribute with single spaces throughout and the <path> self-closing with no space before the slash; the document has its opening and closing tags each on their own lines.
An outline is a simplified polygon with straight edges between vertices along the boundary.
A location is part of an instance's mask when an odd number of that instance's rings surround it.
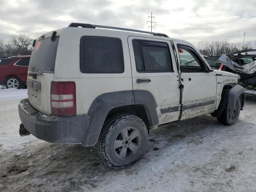
<svg viewBox="0 0 256 192">
<path fill-rule="evenodd" d="M 76 84 L 74 82 L 51 82 L 52 115 L 76 114 Z"/>
</svg>

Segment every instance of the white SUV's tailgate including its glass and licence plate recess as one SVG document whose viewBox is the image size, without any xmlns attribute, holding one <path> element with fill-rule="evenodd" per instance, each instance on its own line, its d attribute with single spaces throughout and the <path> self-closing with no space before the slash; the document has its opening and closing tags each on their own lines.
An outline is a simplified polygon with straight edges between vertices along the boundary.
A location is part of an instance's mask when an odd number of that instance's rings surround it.
<svg viewBox="0 0 256 192">
<path fill-rule="evenodd" d="M 55 60 L 60 38 L 60 30 L 54 40 L 52 32 L 36 41 L 28 66 L 28 100 L 30 104 L 44 114 L 51 114 L 50 89 L 54 80 Z"/>
</svg>

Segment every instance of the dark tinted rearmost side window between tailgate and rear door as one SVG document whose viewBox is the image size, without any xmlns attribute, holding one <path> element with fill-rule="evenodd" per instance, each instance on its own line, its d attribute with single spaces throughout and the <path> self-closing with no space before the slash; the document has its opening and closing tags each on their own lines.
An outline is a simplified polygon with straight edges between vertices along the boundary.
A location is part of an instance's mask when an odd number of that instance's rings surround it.
<svg viewBox="0 0 256 192">
<path fill-rule="evenodd" d="M 82 36 L 80 71 L 82 73 L 123 73 L 122 41 L 112 37 Z"/>
</svg>

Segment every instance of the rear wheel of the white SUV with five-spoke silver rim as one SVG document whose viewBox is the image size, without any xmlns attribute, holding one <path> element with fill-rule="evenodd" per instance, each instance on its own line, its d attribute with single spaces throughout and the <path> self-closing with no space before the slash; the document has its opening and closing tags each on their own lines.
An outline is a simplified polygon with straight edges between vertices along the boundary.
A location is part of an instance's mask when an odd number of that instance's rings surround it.
<svg viewBox="0 0 256 192">
<path fill-rule="evenodd" d="M 132 114 L 118 114 L 104 125 L 97 141 L 98 155 L 111 168 L 126 168 L 137 162 L 146 148 L 148 130 Z"/>
</svg>

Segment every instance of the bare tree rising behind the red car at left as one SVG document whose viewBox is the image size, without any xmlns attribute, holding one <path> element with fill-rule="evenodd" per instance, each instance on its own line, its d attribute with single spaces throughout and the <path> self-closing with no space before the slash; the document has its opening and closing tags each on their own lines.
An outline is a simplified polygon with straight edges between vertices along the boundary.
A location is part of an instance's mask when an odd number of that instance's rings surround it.
<svg viewBox="0 0 256 192">
<path fill-rule="evenodd" d="M 12 44 L 16 47 L 17 52 L 21 55 L 31 54 L 32 39 L 27 35 L 12 35 Z"/>
</svg>

